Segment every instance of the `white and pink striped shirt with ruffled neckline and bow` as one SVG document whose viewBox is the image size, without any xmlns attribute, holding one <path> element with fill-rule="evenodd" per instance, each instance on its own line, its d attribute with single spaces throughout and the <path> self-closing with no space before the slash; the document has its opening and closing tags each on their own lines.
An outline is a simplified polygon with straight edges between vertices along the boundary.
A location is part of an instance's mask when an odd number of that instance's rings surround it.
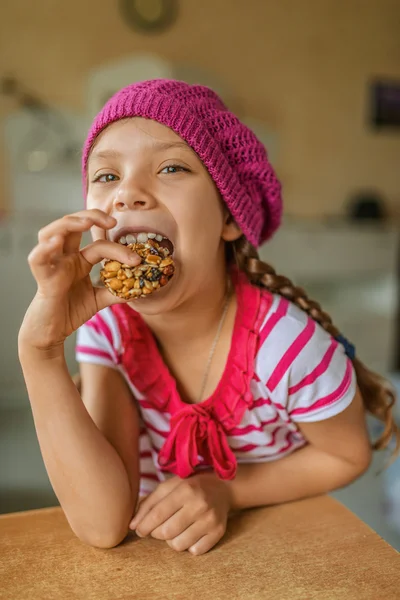
<svg viewBox="0 0 400 600">
<path fill-rule="evenodd" d="M 225 371 L 200 404 L 180 399 L 151 331 L 128 305 L 100 311 L 78 331 L 78 362 L 118 369 L 137 401 L 141 495 L 171 474 L 211 466 L 232 478 L 237 463 L 286 456 L 306 444 L 298 423 L 333 417 L 354 397 L 354 369 L 341 344 L 243 274 L 234 284 L 237 314 Z"/>
</svg>

